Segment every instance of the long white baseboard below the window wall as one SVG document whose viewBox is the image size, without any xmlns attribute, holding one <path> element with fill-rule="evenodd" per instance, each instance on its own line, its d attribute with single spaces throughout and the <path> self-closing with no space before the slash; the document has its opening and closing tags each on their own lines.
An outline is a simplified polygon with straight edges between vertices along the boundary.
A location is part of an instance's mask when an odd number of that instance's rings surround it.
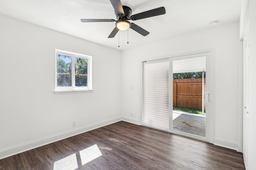
<svg viewBox="0 0 256 170">
<path fill-rule="evenodd" d="M 36 141 L 24 143 L 24 144 L 17 145 L 17 146 L 14 146 L 14 147 L 10 147 L 10 148 L 7 148 L 7 149 L 2 149 L 2 150 L 0 150 L 0 159 L 6 158 L 8 156 L 12 156 L 14 154 L 18 154 L 18 153 L 21 153 L 21 152 L 25 152 L 25 151 L 30 150 L 30 149 L 41 147 L 41 146 L 47 145 L 49 143 L 60 141 L 62 139 L 66 139 L 68 137 L 78 135 L 80 133 L 91 131 L 93 129 L 97 129 L 97 128 L 102 127 L 102 126 L 106 126 L 106 125 L 109 125 L 109 124 L 112 124 L 112 123 L 116 123 L 116 122 L 121 121 L 121 120 L 122 120 L 122 117 L 117 117 L 117 118 L 110 119 L 110 120 L 107 120 L 107 121 L 102 121 L 102 122 L 99 122 L 99 123 L 95 123 L 93 125 L 80 127 L 78 129 L 74 129 L 72 131 L 59 133 L 59 134 L 56 134 L 56 135 L 52 135 L 50 137 L 38 139 Z"/>
</svg>

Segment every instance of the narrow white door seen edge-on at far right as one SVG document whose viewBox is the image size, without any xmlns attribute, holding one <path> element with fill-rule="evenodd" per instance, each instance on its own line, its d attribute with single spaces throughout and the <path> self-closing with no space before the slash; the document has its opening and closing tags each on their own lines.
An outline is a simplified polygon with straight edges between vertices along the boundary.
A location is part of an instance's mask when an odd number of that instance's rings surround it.
<svg viewBox="0 0 256 170">
<path fill-rule="evenodd" d="M 248 55 L 249 55 L 249 24 L 246 27 L 243 40 L 243 156 L 244 165 L 247 167 L 247 134 L 248 134 Z"/>
</svg>

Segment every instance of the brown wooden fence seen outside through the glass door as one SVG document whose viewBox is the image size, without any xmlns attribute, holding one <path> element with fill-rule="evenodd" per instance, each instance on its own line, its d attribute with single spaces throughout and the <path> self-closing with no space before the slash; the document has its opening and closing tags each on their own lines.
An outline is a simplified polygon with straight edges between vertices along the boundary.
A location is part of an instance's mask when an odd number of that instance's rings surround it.
<svg viewBox="0 0 256 170">
<path fill-rule="evenodd" d="M 206 79 L 204 78 L 204 94 L 206 88 L 205 81 Z M 202 78 L 174 79 L 173 106 L 202 109 Z"/>
</svg>

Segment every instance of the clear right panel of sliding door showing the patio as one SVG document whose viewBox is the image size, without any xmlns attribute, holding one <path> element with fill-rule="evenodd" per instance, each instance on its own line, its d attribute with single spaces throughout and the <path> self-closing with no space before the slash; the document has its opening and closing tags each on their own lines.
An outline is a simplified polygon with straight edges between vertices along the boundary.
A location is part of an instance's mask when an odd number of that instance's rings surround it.
<svg viewBox="0 0 256 170">
<path fill-rule="evenodd" d="M 169 130 L 209 142 L 209 53 L 172 57 L 169 61 Z"/>
</svg>

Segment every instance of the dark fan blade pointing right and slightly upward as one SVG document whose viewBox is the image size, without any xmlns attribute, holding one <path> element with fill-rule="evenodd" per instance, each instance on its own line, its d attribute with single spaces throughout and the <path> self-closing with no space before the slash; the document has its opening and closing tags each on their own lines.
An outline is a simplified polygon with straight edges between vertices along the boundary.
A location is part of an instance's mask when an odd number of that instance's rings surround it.
<svg viewBox="0 0 256 170">
<path fill-rule="evenodd" d="M 140 19 L 144 19 L 144 18 L 149 18 L 149 17 L 154 17 L 154 16 L 160 16 L 165 14 L 165 8 L 164 7 L 160 7 L 160 8 L 156 8 L 153 10 L 149 10 L 149 11 L 145 11 L 145 12 L 141 12 L 139 14 L 134 14 L 131 16 L 131 20 L 140 20 Z"/>
</svg>

